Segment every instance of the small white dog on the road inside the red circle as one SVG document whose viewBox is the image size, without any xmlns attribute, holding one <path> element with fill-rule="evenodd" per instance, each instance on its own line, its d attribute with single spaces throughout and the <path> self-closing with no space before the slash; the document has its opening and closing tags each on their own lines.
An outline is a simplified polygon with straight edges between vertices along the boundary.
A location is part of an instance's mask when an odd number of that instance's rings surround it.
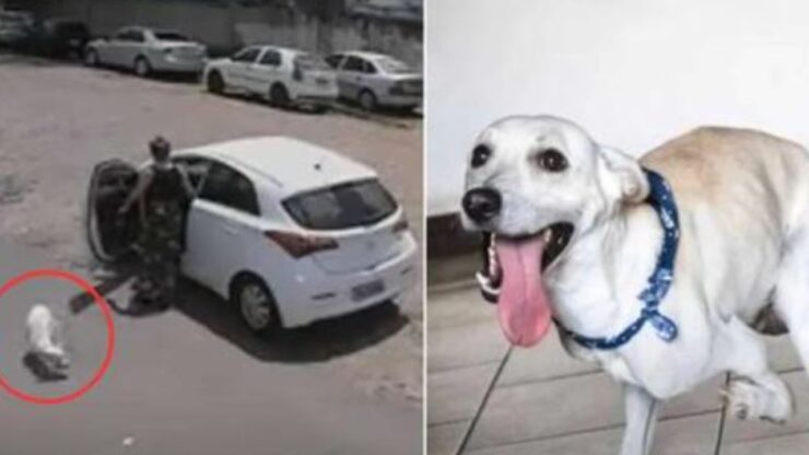
<svg viewBox="0 0 809 455">
<path fill-rule="evenodd" d="M 43 304 L 34 305 L 25 323 L 28 352 L 49 370 L 48 373 L 70 366 L 62 325 L 50 308 Z"/>
</svg>

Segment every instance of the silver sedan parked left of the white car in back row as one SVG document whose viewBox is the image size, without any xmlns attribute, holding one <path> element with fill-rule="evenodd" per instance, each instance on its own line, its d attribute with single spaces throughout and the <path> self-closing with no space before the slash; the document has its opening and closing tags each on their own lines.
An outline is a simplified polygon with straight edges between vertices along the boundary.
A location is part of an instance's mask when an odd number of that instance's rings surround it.
<svg viewBox="0 0 809 455">
<path fill-rule="evenodd" d="M 140 77 L 153 72 L 198 73 L 206 59 L 206 47 L 179 32 L 128 26 L 112 38 L 87 44 L 89 66 L 110 66 L 131 69 Z"/>
</svg>

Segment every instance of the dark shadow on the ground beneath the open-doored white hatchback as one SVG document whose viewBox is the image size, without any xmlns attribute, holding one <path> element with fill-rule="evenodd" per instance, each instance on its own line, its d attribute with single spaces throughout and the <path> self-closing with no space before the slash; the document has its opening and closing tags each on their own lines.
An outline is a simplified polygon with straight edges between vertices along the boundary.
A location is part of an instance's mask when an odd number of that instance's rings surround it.
<svg viewBox="0 0 809 455">
<path fill-rule="evenodd" d="M 102 280 L 95 288 L 99 294 L 107 295 L 124 285 L 132 272 L 131 268 L 118 268 L 116 273 Z M 262 362 L 323 362 L 349 355 L 384 341 L 409 324 L 409 319 L 401 314 L 398 306 L 386 302 L 266 338 L 247 328 L 235 305 L 199 284 L 187 279 L 180 280 L 177 295 L 177 302 L 171 310 L 181 313 Z M 93 298 L 87 293 L 74 295 L 70 300 L 73 314 L 81 313 L 92 304 Z M 109 305 L 118 315 L 125 317 L 157 317 L 167 311 L 157 306 L 113 300 L 109 301 Z"/>
</svg>

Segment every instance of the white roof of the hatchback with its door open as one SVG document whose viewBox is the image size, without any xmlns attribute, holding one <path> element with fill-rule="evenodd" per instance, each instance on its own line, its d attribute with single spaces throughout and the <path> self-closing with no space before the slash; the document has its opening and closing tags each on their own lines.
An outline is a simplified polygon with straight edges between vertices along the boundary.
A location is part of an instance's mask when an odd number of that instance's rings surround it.
<svg viewBox="0 0 809 455">
<path fill-rule="evenodd" d="M 376 178 L 368 166 L 300 139 L 267 136 L 219 142 L 177 152 L 219 160 L 262 178 L 282 196 Z"/>
</svg>

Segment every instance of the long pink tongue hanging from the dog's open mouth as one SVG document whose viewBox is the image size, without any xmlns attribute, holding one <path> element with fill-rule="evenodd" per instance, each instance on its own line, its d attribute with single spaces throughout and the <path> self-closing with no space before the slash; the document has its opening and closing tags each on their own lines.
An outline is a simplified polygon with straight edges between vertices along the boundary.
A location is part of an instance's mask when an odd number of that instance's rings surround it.
<svg viewBox="0 0 809 455">
<path fill-rule="evenodd" d="M 540 267 L 544 242 L 537 235 L 520 241 L 497 238 L 496 245 L 503 269 L 497 301 L 500 326 L 512 345 L 534 346 L 551 325 L 551 307 Z"/>
</svg>

